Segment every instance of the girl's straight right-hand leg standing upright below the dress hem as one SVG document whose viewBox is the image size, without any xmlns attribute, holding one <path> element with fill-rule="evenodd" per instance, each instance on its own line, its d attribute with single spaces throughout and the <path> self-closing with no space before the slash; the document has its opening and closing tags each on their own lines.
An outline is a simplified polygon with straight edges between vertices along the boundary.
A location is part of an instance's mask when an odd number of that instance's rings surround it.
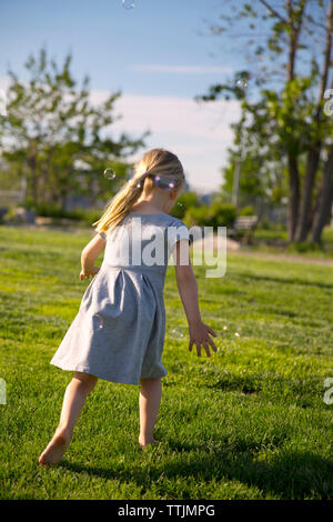
<svg viewBox="0 0 333 522">
<path fill-rule="evenodd" d="M 155 420 L 158 416 L 161 396 L 161 379 L 141 379 L 140 380 L 140 435 L 139 444 L 141 448 L 155 442 L 153 436 Z"/>
</svg>

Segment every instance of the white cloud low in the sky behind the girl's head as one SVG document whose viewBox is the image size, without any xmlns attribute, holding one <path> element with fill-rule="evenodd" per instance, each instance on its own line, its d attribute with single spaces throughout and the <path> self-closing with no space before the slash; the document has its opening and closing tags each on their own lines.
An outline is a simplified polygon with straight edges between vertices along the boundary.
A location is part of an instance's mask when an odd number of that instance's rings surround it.
<svg viewBox="0 0 333 522">
<path fill-rule="evenodd" d="M 92 101 L 99 103 L 105 91 L 92 91 Z M 220 169 L 226 165 L 226 149 L 232 144 L 230 123 L 240 118 L 238 101 L 196 103 L 190 98 L 140 96 L 123 93 L 115 102 L 115 112 L 122 119 L 110 130 L 139 138 L 145 130 L 147 150 L 163 147 L 181 160 L 189 183 L 203 192 L 215 190 L 222 182 Z M 131 161 L 138 161 L 140 150 Z"/>
</svg>

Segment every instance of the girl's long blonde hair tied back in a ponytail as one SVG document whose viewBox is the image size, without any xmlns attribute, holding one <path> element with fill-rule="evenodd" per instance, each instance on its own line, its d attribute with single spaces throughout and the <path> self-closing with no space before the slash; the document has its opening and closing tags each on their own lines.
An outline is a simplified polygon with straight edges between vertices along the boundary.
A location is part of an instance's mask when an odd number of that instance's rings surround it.
<svg viewBox="0 0 333 522">
<path fill-rule="evenodd" d="M 151 149 L 134 165 L 134 175 L 108 203 L 102 217 L 92 223 L 97 232 L 105 232 L 117 227 L 130 212 L 132 205 L 142 194 L 143 188 L 150 193 L 154 190 L 154 177 L 172 178 L 173 188 L 185 183 L 183 167 L 175 154 L 165 149 Z"/>
</svg>

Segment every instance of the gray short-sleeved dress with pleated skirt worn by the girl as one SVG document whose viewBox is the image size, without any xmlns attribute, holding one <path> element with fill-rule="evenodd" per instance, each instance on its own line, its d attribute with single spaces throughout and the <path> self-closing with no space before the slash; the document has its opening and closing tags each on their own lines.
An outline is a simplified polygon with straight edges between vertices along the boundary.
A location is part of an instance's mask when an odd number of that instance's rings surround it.
<svg viewBox="0 0 333 522">
<path fill-rule="evenodd" d="M 100 235 L 103 262 L 51 364 L 127 384 L 162 378 L 165 273 L 176 240 L 190 239 L 189 230 L 167 213 L 130 212 Z"/>
</svg>

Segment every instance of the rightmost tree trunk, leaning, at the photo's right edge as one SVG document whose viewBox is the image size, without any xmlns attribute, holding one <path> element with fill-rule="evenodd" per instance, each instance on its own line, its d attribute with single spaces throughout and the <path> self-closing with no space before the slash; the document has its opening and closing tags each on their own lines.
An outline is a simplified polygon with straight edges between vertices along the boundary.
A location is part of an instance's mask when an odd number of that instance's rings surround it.
<svg viewBox="0 0 333 522">
<path fill-rule="evenodd" d="M 333 203 L 333 145 L 331 145 L 327 161 L 324 165 L 323 180 L 321 187 L 321 198 L 313 220 L 311 241 L 320 243 L 322 231 L 329 221 Z"/>
</svg>

